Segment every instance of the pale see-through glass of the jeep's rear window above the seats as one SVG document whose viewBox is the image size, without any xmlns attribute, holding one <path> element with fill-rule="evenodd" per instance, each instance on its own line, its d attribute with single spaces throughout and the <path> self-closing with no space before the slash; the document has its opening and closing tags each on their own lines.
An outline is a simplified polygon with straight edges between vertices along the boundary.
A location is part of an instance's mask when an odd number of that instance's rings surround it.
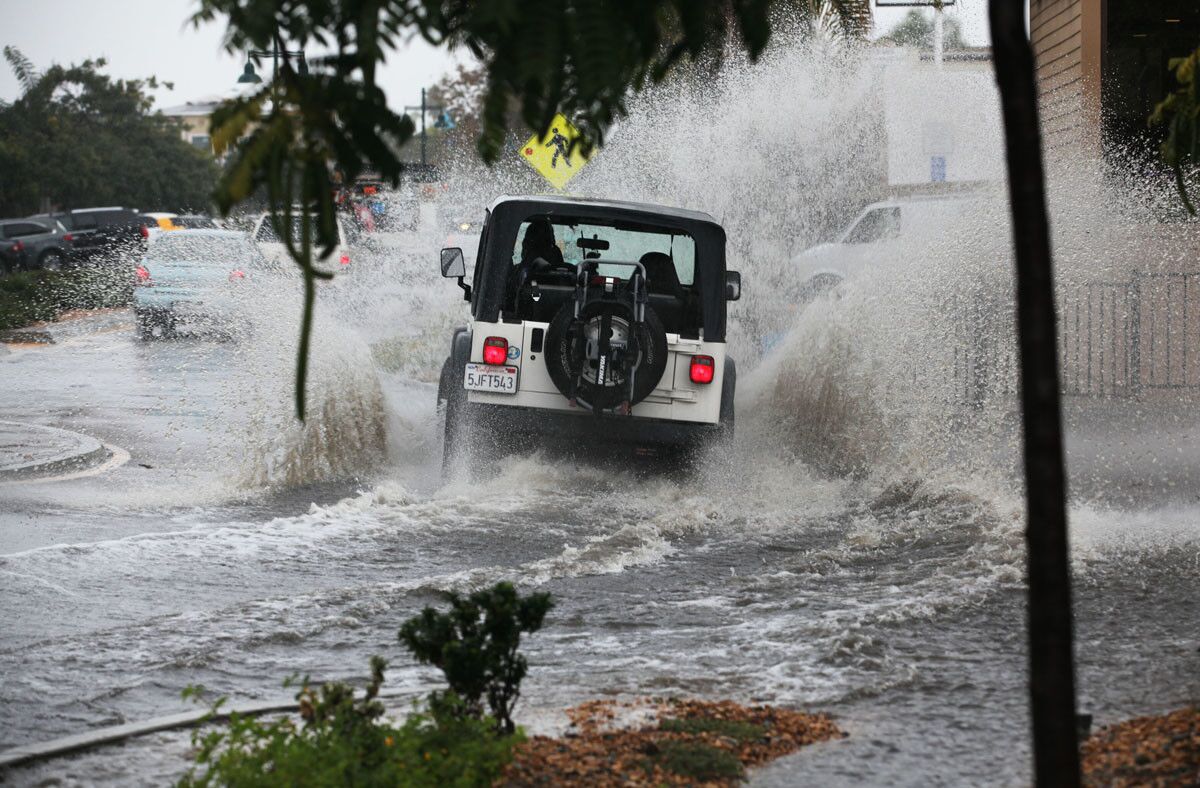
<svg viewBox="0 0 1200 788">
<path fill-rule="evenodd" d="M 523 261 L 526 231 L 535 221 L 546 219 L 538 218 L 521 223 L 517 242 L 512 249 L 512 265 L 521 265 Z M 642 255 L 649 252 L 661 252 L 674 263 L 679 284 L 691 285 L 696 281 L 696 241 L 686 233 L 666 228 L 588 224 L 556 217 L 551 217 L 550 223 L 554 230 L 554 245 L 563 253 L 563 261 L 568 265 L 578 265 L 587 254 L 588 259 L 594 257 L 600 261 L 598 271 L 602 276 L 628 279 L 632 273 L 631 267 L 605 265 L 605 261 L 638 263 Z M 605 249 L 583 248 L 578 246 L 580 239 L 606 241 L 608 247 Z"/>
</svg>

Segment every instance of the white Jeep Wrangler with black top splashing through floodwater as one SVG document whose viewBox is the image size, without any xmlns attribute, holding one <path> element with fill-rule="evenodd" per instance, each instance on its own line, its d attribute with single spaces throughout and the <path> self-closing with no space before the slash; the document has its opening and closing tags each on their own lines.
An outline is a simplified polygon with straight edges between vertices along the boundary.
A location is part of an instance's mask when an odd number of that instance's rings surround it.
<svg viewBox="0 0 1200 788">
<path fill-rule="evenodd" d="M 707 213 L 556 197 L 487 210 L 470 321 L 442 367 L 443 462 L 533 447 L 590 458 L 694 453 L 733 433 L 725 230 Z"/>
</svg>

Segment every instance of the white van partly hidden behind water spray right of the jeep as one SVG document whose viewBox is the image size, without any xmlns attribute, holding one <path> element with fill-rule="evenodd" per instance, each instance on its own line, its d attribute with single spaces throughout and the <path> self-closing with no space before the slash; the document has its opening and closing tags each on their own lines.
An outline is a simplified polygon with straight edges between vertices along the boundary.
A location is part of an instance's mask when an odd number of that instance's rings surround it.
<svg viewBox="0 0 1200 788">
<path fill-rule="evenodd" d="M 792 259 L 800 302 L 835 288 L 872 265 L 887 264 L 905 240 L 929 236 L 976 205 L 972 193 L 907 197 L 871 203 L 833 241 Z"/>
</svg>

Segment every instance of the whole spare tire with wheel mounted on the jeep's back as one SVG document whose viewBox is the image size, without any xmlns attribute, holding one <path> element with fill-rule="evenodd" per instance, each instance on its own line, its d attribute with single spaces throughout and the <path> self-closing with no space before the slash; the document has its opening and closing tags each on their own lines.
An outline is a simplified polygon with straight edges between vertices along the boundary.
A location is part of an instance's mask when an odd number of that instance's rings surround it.
<svg viewBox="0 0 1200 788">
<path fill-rule="evenodd" d="M 602 351 L 605 325 L 608 326 L 608 354 Z M 626 402 L 632 408 L 662 379 L 667 366 L 667 335 L 649 306 L 637 323 L 634 307 L 624 301 L 590 301 L 576 320 L 575 305 L 566 302 L 546 330 L 545 359 L 554 386 L 584 408 L 604 411 Z"/>
</svg>

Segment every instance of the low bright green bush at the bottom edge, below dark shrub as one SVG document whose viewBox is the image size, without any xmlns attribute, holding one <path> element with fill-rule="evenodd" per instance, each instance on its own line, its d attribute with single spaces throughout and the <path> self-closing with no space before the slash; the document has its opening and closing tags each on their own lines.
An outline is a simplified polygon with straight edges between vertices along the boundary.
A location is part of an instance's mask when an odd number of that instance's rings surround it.
<svg viewBox="0 0 1200 788">
<path fill-rule="evenodd" d="M 384 668 L 382 658 L 371 660 L 371 681 L 359 698 L 346 684 L 326 684 L 317 692 L 302 682 L 299 726 L 290 717 L 260 721 L 234 714 L 223 728 L 198 729 L 192 736 L 196 766 L 179 784 L 492 784 L 521 734 L 498 734 L 492 720 L 467 715 L 450 693 L 424 710 L 414 708 L 398 728 L 390 726 L 382 721 L 378 699 Z M 220 706 L 214 705 L 214 715 Z"/>
</svg>

